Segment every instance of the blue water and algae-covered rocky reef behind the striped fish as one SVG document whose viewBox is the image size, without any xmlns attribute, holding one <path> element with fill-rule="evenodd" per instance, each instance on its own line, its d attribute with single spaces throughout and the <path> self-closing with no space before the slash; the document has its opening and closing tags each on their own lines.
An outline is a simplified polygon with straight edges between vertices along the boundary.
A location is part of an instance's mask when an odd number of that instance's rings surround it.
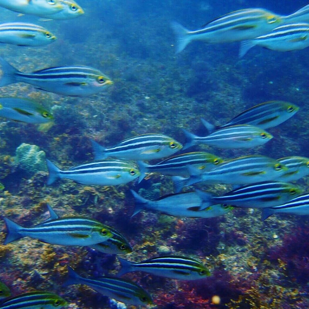
<svg viewBox="0 0 309 309">
<path fill-rule="evenodd" d="M 71 20 L 39 18 L 0 8 L 2 23 L 32 22 L 51 29 L 53 44 L 31 48 L 0 45 L 0 54 L 22 72 L 70 64 L 98 68 L 114 84 L 103 93 L 75 98 L 36 90 L 28 84 L 0 88 L 0 96 L 34 99 L 48 107 L 54 124 L 0 121 L 0 215 L 31 226 L 48 217 L 49 203 L 60 216 L 95 218 L 120 231 L 133 252 L 123 257 L 146 260 L 178 254 L 200 259 L 212 275 L 199 281 L 175 281 L 147 273 L 129 273 L 153 298 L 152 308 L 308 308 L 309 227 L 306 216 L 276 215 L 260 220 L 260 210 L 235 209 L 210 219 L 175 218 L 142 212 L 131 218 L 129 188 L 149 199 L 173 192 L 170 177 L 152 175 L 142 183 L 116 187 L 84 186 L 60 180 L 46 186 L 47 168 L 15 158 L 22 143 L 36 145 L 61 168 L 91 162 L 90 138 L 111 146 L 143 133 L 162 133 L 184 142 L 182 128 L 205 134 L 200 117 L 216 125 L 253 105 L 284 100 L 299 112 L 269 130 L 274 138 L 254 149 L 221 150 L 199 146 L 222 158 L 260 154 L 271 158 L 308 157 L 308 49 L 278 53 L 260 47 L 238 58 L 239 42 L 190 43 L 175 54 L 171 21 L 198 29 L 228 12 L 261 7 L 290 14 L 306 1 L 121 1 L 79 0 L 85 14 Z M 42 155 L 42 154 L 41 154 Z M 43 155 L 44 156 L 44 155 Z M 307 191 L 308 178 L 298 181 Z M 230 186 L 212 185 L 220 194 Z M 114 308 L 109 299 L 87 286 L 61 287 L 71 265 L 88 276 L 115 274 L 114 255 L 83 247 L 60 247 L 25 238 L 2 245 L 0 281 L 12 294 L 48 290 L 69 308 Z M 213 296 L 220 303 L 213 302 Z M 130 307 L 130 306 L 127 306 Z"/>
</svg>

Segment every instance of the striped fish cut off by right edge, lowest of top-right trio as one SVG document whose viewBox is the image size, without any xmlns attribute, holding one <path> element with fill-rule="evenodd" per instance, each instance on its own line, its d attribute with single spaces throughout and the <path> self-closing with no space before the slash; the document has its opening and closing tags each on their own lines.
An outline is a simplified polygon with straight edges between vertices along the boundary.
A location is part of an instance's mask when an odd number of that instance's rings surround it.
<svg viewBox="0 0 309 309">
<path fill-rule="evenodd" d="M 285 24 L 253 40 L 242 41 L 239 49 L 239 58 L 243 57 L 249 49 L 256 45 L 278 52 L 304 49 L 309 46 L 309 24 Z"/>
</svg>

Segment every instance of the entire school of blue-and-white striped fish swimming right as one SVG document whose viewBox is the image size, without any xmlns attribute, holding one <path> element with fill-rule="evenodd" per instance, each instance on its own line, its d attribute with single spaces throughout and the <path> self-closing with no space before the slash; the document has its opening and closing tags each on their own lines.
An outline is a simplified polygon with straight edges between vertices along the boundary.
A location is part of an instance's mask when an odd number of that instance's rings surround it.
<svg viewBox="0 0 309 309">
<path fill-rule="evenodd" d="M 65 20 L 84 14 L 73 0 L 0 0 L 0 6 L 46 19 Z M 241 41 L 240 57 L 256 45 L 277 51 L 303 49 L 309 46 L 309 5 L 287 16 L 251 8 L 218 17 L 196 31 L 188 31 L 176 22 L 172 23 L 172 28 L 177 36 L 177 53 L 193 40 L 207 43 Z M 52 32 L 39 25 L 20 22 L 0 24 L 1 43 L 42 46 L 56 39 Z M 113 84 L 100 70 L 80 64 L 45 68 L 32 73 L 17 70 L 2 57 L 0 64 L 0 87 L 23 82 L 43 91 L 84 97 Z M 262 220 L 278 213 L 309 215 L 309 194 L 303 194 L 297 184 L 290 183 L 309 174 L 309 158 L 291 156 L 273 159 L 250 155 L 230 159 L 202 151 L 175 155 L 199 144 L 224 149 L 264 145 L 273 138 L 266 129 L 288 121 L 298 110 L 296 104 L 275 100 L 253 106 L 219 127 L 201 119 L 208 134 L 197 136 L 183 129 L 187 140 L 185 145 L 159 133 L 133 136 L 109 147 L 90 140 L 94 162 L 62 170 L 47 160 L 47 185 L 57 185 L 57 181 L 68 179 L 84 185 L 116 186 L 133 180 L 141 182 L 146 174 L 160 173 L 172 176 L 175 193 L 151 201 L 131 190 L 135 200 L 132 216 L 141 211 L 152 211 L 176 217 L 213 218 L 235 207 L 262 209 Z M 40 104 L 17 97 L 0 98 L 0 117 L 32 124 L 53 120 L 51 112 Z M 145 162 L 156 159 L 163 161 Z M 217 183 L 235 187 L 220 196 L 200 189 L 181 192 L 184 187 L 193 184 Z M 129 241 L 114 228 L 92 218 L 60 218 L 50 205 L 48 210 L 49 219 L 30 227 L 4 218 L 7 230 L 4 244 L 30 237 L 53 245 L 88 246 L 110 254 L 132 252 Z M 121 270 L 117 277 L 82 277 L 68 266 L 68 278 L 63 287 L 87 285 L 105 296 L 138 306 L 151 304 L 151 296 L 133 281 L 121 278 L 125 273 L 144 271 L 177 280 L 197 280 L 211 275 L 200 261 L 185 256 L 157 256 L 138 263 L 120 257 L 118 260 Z M 0 309 L 62 308 L 67 305 L 66 300 L 45 291 L 11 297 L 4 283 L 0 283 L 0 302 Z"/>
</svg>

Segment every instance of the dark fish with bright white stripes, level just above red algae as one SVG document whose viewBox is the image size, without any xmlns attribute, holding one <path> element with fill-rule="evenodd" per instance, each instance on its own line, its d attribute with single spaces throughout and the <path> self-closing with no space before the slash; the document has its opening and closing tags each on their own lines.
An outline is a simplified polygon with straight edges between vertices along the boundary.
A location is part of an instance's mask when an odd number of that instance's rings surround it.
<svg viewBox="0 0 309 309">
<path fill-rule="evenodd" d="M 198 280 L 210 276 L 210 271 L 202 263 L 184 256 L 158 256 L 140 263 L 117 258 L 121 264 L 121 270 L 117 273 L 119 277 L 134 271 L 178 280 Z"/>
</svg>

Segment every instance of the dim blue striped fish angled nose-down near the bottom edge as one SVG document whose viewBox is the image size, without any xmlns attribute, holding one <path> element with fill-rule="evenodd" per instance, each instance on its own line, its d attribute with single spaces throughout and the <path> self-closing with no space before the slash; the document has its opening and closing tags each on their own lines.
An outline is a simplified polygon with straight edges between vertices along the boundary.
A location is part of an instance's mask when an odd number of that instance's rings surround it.
<svg viewBox="0 0 309 309">
<path fill-rule="evenodd" d="M 85 278 L 68 266 L 68 279 L 62 286 L 66 287 L 72 284 L 85 284 L 96 292 L 125 304 L 135 306 L 152 304 L 151 296 L 133 281 L 108 276 Z"/>
</svg>

